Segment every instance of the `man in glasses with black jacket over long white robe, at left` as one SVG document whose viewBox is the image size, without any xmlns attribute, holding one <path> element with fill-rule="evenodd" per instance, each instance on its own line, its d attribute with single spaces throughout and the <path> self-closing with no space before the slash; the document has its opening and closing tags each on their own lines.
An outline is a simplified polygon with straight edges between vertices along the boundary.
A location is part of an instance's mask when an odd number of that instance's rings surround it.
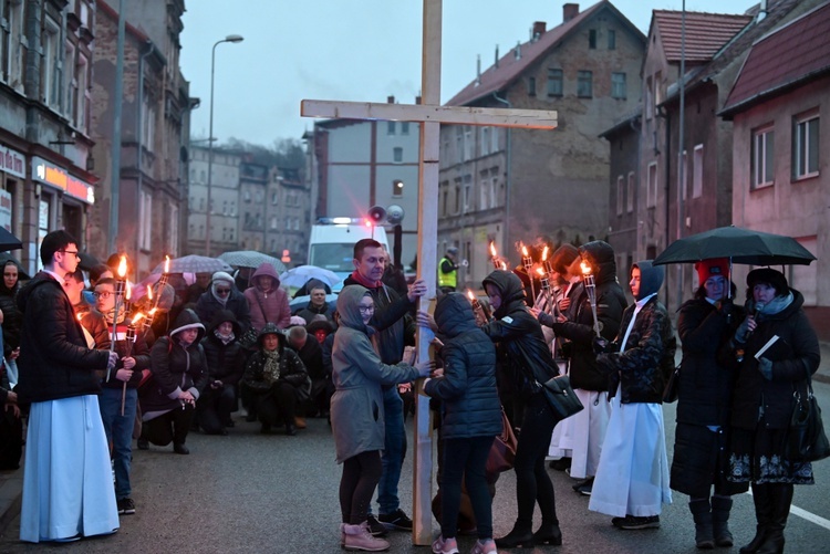
<svg viewBox="0 0 830 554">
<path fill-rule="evenodd" d="M 40 248 L 43 271 L 20 291 L 21 401 L 31 403 L 20 540 L 68 542 L 110 534 L 118 512 L 110 452 L 100 417 L 100 375 L 118 355 L 96 351 L 63 290 L 77 268 L 77 243 L 52 231 Z M 52 452 L 60 452 L 54 459 Z"/>
</svg>

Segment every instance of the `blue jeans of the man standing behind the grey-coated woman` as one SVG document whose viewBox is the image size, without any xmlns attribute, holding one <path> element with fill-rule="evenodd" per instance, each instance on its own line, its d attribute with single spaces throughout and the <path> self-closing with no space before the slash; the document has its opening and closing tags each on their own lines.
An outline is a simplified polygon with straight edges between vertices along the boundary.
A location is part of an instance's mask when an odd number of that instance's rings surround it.
<svg viewBox="0 0 830 554">
<path fill-rule="evenodd" d="M 377 483 L 377 505 L 380 513 L 392 513 L 401 506 L 397 498 L 397 482 L 406 456 L 406 430 L 404 429 L 404 400 L 393 386 L 383 391 L 385 446 L 381 456 L 381 482 Z"/>
</svg>

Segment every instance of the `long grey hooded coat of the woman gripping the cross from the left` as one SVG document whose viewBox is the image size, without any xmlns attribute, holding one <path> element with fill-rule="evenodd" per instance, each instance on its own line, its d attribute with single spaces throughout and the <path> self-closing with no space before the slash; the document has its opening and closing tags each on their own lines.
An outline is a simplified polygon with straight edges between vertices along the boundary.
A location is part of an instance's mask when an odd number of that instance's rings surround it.
<svg viewBox="0 0 830 554">
<path fill-rule="evenodd" d="M 331 425 L 338 463 L 361 452 L 383 450 L 385 442 L 382 386 L 418 377 L 409 364 L 385 364 L 370 341 L 360 302 L 372 292 L 360 285 L 344 286 L 338 295 L 340 327 L 334 335 L 332 366 L 334 395 Z M 402 346 L 403 348 L 403 346 Z"/>
</svg>

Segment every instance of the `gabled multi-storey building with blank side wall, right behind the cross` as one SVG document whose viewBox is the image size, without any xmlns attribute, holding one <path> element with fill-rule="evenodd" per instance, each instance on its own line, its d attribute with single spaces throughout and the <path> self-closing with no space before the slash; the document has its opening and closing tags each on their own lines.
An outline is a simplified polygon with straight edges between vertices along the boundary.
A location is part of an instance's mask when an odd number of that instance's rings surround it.
<svg viewBox="0 0 830 554">
<path fill-rule="evenodd" d="M 554 244 L 608 234 L 609 151 L 599 137 L 639 100 L 643 34 L 609 1 L 562 23 L 533 23 L 530 40 L 478 71 L 453 106 L 557 109 L 554 130 L 444 125 L 438 251 L 459 247 L 461 283 L 490 271 L 487 244 L 516 265 L 519 241 Z"/>
</svg>

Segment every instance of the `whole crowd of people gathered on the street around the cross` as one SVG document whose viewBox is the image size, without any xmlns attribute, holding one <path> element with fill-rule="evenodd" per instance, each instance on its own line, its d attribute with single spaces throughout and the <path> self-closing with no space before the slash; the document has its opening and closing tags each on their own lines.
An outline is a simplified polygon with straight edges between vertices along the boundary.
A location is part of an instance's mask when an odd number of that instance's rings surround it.
<svg viewBox="0 0 830 554">
<path fill-rule="evenodd" d="M 528 286 L 521 270 L 491 272 L 486 300 L 473 304 L 454 292 L 464 263 L 449 249 L 433 315 L 417 310 L 427 283 L 390 280 L 388 254 L 371 239 L 354 245 L 336 309 L 328 286 L 312 281 L 301 291 L 308 304 L 293 311 L 270 264 L 245 284 L 221 271 L 189 286 L 170 279 L 131 311 L 113 268 L 77 269 L 65 231 L 49 233 L 40 254 L 43 270 L 25 285 L 13 261 L 0 283 L 0 466 L 15 469 L 25 442 L 22 541 L 117 531 L 118 516 L 136 511 L 133 440 L 188 454 L 189 432 L 228 435 L 241 404 L 239 416 L 262 433 L 295 436 L 305 417 L 328 418 L 343 468 L 341 546 L 387 550 L 391 530 L 413 526 L 398 481 L 405 385 L 419 378 L 439 421 L 436 554 L 457 553 L 459 531 L 477 535 L 476 554 L 562 544 L 551 468 L 569 469 L 589 510 L 620 530 L 658 527 L 672 490 L 687 494 L 698 548 L 733 545 L 732 495 L 751 485 L 757 534 L 741 552 L 759 553 L 782 552 L 793 484 L 813 482 L 784 438 L 792 394 L 806 394 L 818 368 L 818 339 L 803 296 L 772 269 L 749 272 L 740 306 L 728 261 L 698 262 L 699 289 L 679 309 L 675 334 L 658 300 L 662 266 L 632 265 L 629 304 L 614 251 L 599 240 L 559 247 L 546 266 L 551 286 Z M 145 325 L 136 312 L 151 302 L 157 313 Z M 419 327 L 435 333 L 433 360 L 413 355 Z M 683 362 L 670 466 L 661 404 L 676 336 Z M 584 407 L 567 419 L 542 388 L 562 374 Z M 487 461 L 502 410 L 518 436 L 517 513 L 496 537 L 498 474 Z M 53 463 L 58 450 L 69 463 Z"/>
</svg>

